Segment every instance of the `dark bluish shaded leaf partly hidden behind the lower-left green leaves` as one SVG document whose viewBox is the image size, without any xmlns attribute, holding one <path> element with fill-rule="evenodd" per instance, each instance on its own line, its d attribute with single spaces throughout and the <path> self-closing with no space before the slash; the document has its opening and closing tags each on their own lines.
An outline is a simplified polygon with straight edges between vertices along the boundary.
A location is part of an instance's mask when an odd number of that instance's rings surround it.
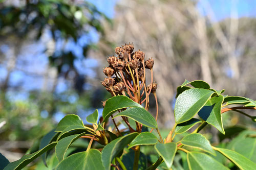
<svg viewBox="0 0 256 170">
<path fill-rule="evenodd" d="M 39 150 L 45 148 L 49 143 L 51 143 L 51 141 L 55 138 L 57 138 L 58 133 L 55 132 L 55 129 L 53 129 L 52 131 L 50 131 L 49 133 L 47 133 L 44 137 L 42 137 L 40 145 L 39 145 Z M 47 163 L 46 163 L 46 158 L 47 158 L 47 152 L 45 152 L 44 154 L 41 155 L 42 161 L 44 162 L 44 164 L 47 167 Z"/>
</svg>

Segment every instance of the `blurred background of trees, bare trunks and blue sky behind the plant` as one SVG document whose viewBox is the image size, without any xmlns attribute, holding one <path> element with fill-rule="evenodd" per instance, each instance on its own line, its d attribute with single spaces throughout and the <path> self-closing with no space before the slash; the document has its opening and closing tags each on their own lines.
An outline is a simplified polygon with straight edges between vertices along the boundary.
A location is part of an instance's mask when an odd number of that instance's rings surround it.
<svg viewBox="0 0 256 170">
<path fill-rule="evenodd" d="M 100 83 L 101 68 L 115 46 L 128 42 L 155 60 L 161 127 L 174 124 L 176 88 L 185 79 L 256 99 L 255 5 L 242 0 L 1 1 L 0 152 L 25 152 L 65 114 L 85 118 L 95 108 L 101 112 L 101 101 L 110 97 Z M 236 113 L 224 116 L 224 128 L 255 128 L 248 122 Z M 205 132 L 214 134 L 209 133 L 212 141 L 223 139 L 214 128 Z M 10 141 L 19 142 L 13 147 Z"/>
</svg>

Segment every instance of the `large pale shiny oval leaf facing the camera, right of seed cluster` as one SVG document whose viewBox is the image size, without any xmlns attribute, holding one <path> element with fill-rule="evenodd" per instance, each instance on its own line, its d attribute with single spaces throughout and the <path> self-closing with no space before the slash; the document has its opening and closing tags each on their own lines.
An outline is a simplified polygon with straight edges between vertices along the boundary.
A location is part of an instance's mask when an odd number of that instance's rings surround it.
<svg viewBox="0 0 256 170">
<path fill-rule="evenodd" d="M 177 124 L 190 120 L 205 105 L 214 93 L 210 90 L 191 88 L 181 93 L 174 108 L 175 122 Z"/>
</svg>

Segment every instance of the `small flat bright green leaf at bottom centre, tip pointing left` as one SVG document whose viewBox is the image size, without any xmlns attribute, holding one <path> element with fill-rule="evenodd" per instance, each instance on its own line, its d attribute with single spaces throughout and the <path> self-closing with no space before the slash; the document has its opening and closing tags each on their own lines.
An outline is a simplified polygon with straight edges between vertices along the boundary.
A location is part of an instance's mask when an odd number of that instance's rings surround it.
<svg viewBox="0 0 256 170">
<path fill-rule="evenodd" d="M 133 141 L 130 143 L 129 148 L 132 148 L 136 145 L 150 145 L 150 144 L 156 144 L 157 143 L 157 137 L 150 133 L 150 132 L 142 132 L 138 136 L 133 139 Z"/>
</svg>

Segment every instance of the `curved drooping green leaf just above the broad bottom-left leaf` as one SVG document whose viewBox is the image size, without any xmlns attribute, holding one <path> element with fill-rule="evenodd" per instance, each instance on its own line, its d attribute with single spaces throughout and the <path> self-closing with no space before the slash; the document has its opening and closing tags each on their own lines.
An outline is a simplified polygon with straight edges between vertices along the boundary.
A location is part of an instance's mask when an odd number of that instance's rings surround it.
<svg viewBox="0 0 256 170">
<path fill-rule="evenodd" d="M 68 137 L 65 137 L 65 138 L 62 138 L 61 140 L 59 140 L 59 142 L 57 143 L 57 145 L 55 147 L 55 152 L 56 152 L 58 161 L 61 161 L 64 158 L 70 144 L 73 143 L 76 139 L 78 139 L 82 135 L 84 135 L 84 133 L 71 135 L 71 136 L 68 136 Z"/>
</svg>

